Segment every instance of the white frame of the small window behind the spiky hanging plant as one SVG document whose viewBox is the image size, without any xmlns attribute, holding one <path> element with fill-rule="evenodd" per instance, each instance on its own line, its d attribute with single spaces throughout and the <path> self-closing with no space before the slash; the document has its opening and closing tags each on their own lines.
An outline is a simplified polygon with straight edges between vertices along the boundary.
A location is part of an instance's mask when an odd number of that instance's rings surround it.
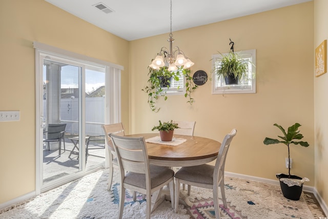
<svg viewBox="0 0 328 219">
<path fill-rule="evenodd" d="M 249 64 L 249 74 L 248 79 L 240 82 L 238 85 L 226 85 L 224 83 L 224 78 L 217 77 L 215 72 L 213 72 L 212 80 L 212 94 L 227 94 L 227 93 L 256 93 L 256 50 L 244 50 L 237 51 L 241 58 L 249 59 L 253 65 Z M 226 55 L 228 53 L 223 53 Z M 219 59 L 222 57 L 221 54 L 212 55 L 212 66 L 213 69 L 219 65 Z"/>
</svg>

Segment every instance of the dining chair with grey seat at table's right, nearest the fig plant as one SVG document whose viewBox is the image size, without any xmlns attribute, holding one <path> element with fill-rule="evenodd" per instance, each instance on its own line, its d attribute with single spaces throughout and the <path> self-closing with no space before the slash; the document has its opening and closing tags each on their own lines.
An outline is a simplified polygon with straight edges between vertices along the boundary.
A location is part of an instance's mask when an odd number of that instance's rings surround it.
<svg viewBox="0 0 328 219">
<path fill-rule="evenodd" d="M 226 194 L 224 193 L 224 165 L 226 163 L 228 149 L 236 133 L 237 130 L 233 129 L 230 134 L 224 137 L 216 158 L 215 166 L 203 164 L 192 167 L 182 167 L 175 173 L 175 212 L 177 212 L 178 209 L 180 183 L 185 183 L 192 186 L 213 189 L 215 217 L 217 219 L 220 218 L 218 187 L 220 186 L 221 189 L 224 208 L 227 208 Z"/>
</svg>

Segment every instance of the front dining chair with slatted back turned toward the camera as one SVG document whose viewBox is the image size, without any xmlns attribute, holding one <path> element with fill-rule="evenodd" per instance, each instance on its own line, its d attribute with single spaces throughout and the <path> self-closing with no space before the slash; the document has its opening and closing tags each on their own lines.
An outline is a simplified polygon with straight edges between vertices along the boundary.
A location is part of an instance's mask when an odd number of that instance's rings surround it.
<svg viewBox="0 0 328 219">
<path fill-rule="evenodd" d="M 171 205 L 174 208 L 174 171 L 168 167 L 149 164 L 145 138 L 115 134 L 110 134 L 110 137 L 120 172 L 118 218 L 122 218 L 126 189 L 146 194 L 146 218 L 150 218 L 151 212 L 160 204 L 160 198 L 152 200 L 152 194 L 155 191 L 161 193 L 162 187 L 169 184 Z"/>
</svg>

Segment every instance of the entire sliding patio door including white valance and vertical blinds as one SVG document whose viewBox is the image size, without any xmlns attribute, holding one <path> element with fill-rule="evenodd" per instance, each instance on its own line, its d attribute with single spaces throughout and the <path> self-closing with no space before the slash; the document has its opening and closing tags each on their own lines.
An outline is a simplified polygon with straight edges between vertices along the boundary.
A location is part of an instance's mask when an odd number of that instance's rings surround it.
<svg viewBox="0 0 328 219">
<path fill-rule="evenodd" d="M 120 121 L 122 66 L 34 42 L 36 194 L 107 167 L 103 124 Z"/>
</svg>

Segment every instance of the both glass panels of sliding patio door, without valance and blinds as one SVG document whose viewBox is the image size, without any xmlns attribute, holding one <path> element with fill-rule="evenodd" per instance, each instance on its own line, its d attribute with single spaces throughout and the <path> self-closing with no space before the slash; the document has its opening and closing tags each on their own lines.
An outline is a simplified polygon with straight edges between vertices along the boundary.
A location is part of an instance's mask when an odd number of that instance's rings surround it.
<svg viewBox="0 0 328 219">
<path fill-rule="evenodd" d="M 42 185 L 105 166 L 105 66 L 42 56 Z"/>
</svg>

